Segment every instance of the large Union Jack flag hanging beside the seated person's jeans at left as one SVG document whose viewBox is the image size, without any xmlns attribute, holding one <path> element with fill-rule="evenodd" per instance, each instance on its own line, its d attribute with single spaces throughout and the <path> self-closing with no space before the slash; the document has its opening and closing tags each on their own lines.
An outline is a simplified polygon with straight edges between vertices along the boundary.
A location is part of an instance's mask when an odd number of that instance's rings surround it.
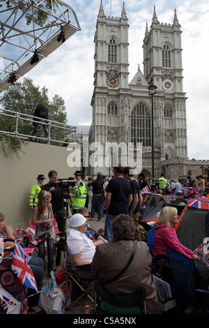
<svg viewBox="0 0 209 328">
<path fill-rule="evenodd" d="M 36 279 L 33 275 L 33 271 L 27 264 L 26 258 L 24 257 L 24 253 L 17 243 L 15 243 L 14 248 L 12 270 L 17 276 L 17 278 L 20 279 L 22 285 L 28 288 L 32 288 L 36 290 L 36 292 L 38 292 Z"/>
</svg>

